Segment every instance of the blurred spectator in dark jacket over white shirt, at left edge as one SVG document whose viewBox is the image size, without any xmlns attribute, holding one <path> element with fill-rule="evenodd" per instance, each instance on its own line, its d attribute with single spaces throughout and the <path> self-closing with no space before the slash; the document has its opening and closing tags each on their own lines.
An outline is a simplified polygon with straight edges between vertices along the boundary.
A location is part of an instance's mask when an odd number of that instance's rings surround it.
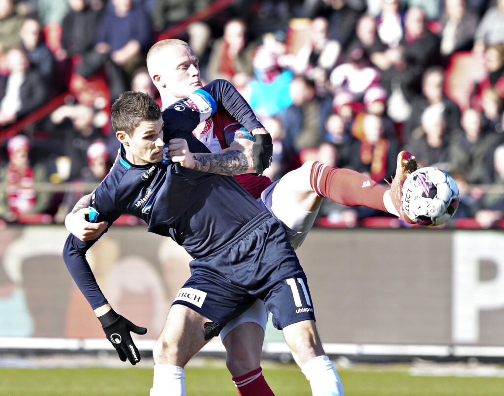
<svg viewBox="0 0 504 396">
<path fill-rule="evenodd" d="M 13 47 L 7 53 L 9 75 L 0 79 L 0 126 L 30 114 L 49 97 L 44 78 L 30 67 L 26 52 Z"/>
</svg>

